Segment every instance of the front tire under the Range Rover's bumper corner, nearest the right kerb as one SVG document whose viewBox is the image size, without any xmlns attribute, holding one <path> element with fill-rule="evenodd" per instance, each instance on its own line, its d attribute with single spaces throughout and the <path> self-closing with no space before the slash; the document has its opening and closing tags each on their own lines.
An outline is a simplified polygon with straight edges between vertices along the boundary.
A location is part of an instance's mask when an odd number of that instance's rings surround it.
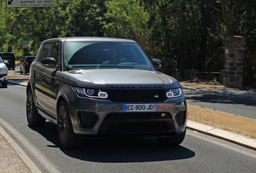
<svg viewBox="0 0 256 173">
<path fill-rule="evenodd" d="M 180 145 L 186 135 L 186 129 L 183 133 L 180 133 L 179 135 L 175 135 L 173 137 L 167 137 L 167 138 L 157 138 L 160 144 L 162 145 L 167 145 L 167 146 L 175 146 L 175 145 Z"/>
</svg>

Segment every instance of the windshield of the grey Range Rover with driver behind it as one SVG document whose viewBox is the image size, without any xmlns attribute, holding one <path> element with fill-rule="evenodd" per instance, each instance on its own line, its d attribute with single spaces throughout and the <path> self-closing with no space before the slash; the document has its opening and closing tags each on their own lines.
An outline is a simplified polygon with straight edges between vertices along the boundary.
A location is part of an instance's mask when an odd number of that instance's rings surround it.
<svg viewBox="0 0 256 173">
<path fill-rule="evenodd" d="M 63 70 L 142 69 L 155 70 L 143 50 L 134 42 L 63 42 Z"/>
</svg>

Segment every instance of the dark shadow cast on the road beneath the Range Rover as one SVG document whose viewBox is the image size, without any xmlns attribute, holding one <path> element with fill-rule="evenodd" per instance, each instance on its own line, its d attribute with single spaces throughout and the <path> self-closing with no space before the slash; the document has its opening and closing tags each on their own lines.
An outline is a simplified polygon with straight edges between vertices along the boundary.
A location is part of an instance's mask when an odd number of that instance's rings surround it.
<svg viewBox="0 0 256 173">
<path fill-rule="evenodd" d="M 30 127 L 53 143 L 48 147 L 60 147 L 57 126 L 46 122 L 44 127 Z M 64 150 L 69 157 L 83 161 L 100 163 L 134 163 L 188 159 L 195 156 L 194 151 L 182 147 L 160 145 L 156 137 L 114 138 L 85 140 L 82 149 Z"/>
</svg>

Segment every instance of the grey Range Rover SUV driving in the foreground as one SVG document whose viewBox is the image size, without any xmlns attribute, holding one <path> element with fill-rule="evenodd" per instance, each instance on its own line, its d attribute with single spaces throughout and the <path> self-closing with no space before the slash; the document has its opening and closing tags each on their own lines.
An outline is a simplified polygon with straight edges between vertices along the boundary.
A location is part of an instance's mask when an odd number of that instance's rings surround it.
<svg viewBox="0 0 256 173">
<path fill-rule="evenodd" d="M 57 125 L 60 147 L 88 139 L 157 137 L 180 145 L 187 105 L 179 82 L 133 40 L 52 38 L 41 43 L 27 85 L 27 121 Z"/>
</svg>

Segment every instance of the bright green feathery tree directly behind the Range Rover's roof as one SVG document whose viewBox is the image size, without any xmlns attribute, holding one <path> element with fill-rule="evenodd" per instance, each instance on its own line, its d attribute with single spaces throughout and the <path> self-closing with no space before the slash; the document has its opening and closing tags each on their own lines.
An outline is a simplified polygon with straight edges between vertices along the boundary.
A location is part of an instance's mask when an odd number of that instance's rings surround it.
<svg viewBox="0 0 256 173">
<path fill-rule="evenodd" d="M 105 2 L 107 12 L 101 19 L 104 34 L 107 37 L 126 38 L 138 42 L 146 53 L 151 56 L 149 50 L 148 35 L 151 32 L 147 28 L 149 13 L 140 6 L 138 0 L 109 0 Z"/>
</svg>

